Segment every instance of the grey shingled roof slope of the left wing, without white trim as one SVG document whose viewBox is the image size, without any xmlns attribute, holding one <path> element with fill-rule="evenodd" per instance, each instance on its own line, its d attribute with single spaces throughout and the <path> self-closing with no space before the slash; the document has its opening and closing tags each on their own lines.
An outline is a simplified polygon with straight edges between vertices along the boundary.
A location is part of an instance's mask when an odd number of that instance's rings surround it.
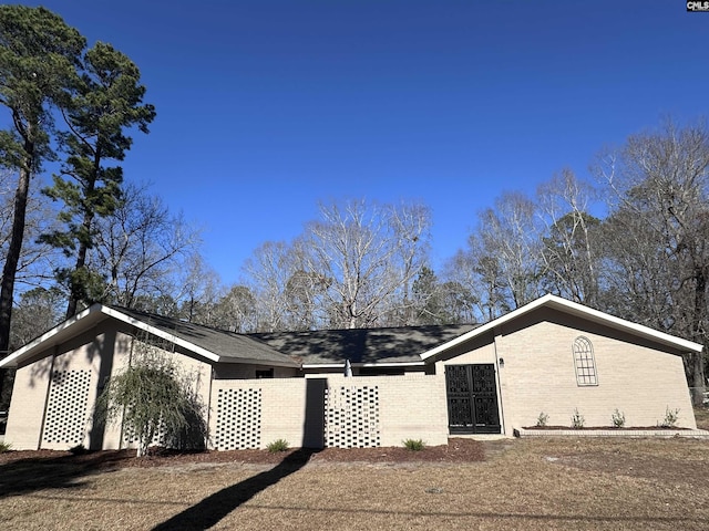
<svg viewBox="0 0 709 531">
<path fill-rule="evenodd" d="M 110 308 L 222 357 L 298 366 L 292 358 L 281 354 L 266 343 L 258 341 L 257 337 L 187 323 L 178 319 L 165 317 L 137 310 L 127 310 L 120 306 Z"/>
</svg>

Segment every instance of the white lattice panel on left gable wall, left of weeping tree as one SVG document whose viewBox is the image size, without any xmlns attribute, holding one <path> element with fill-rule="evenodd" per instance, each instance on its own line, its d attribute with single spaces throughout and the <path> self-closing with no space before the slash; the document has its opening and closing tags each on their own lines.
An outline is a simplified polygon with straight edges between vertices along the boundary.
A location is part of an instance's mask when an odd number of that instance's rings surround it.
<svg viewBox="0 0 709 531">
<path fill-rule="evenodd" d="M 86 426 L 91 371 L 54 371 L 42 442 L 81 445 Z"/>
</svg>

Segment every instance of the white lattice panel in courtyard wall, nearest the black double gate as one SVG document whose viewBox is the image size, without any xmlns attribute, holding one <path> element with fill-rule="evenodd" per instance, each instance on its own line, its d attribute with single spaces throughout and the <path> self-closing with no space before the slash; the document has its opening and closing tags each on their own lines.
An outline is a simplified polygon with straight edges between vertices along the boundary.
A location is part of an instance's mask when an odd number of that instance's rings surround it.
<svg viewBox="0 0 709 531">
<path fill-rule="evenodd" d="M 379 388 L 338 386 L 325 395 L 325 446 L 372 448 L 381 446 Z"/>
</svg>

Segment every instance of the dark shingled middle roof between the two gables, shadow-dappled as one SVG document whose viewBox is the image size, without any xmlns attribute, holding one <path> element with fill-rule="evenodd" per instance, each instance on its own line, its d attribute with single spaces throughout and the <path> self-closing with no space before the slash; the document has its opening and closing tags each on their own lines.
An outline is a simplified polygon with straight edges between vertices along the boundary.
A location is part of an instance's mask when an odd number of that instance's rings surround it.
<svg viewBox="0 0 709 531">
<path fill-rule="evenodd" d="M 421 362 L 420 354 L 476 327 L 474 324 L 316 330 L 248 334 L 305 364 Z"/>
</svg>

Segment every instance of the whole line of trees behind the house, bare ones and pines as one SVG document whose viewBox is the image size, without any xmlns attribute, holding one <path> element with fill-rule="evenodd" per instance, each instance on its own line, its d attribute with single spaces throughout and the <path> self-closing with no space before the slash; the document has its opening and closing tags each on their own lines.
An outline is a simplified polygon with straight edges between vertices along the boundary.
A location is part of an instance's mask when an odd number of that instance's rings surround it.
<svg viewBox="0 0 709 531">
<path fill-rule="evenodd" d="M 709 344 L 703 122 L 633 135 L 588 179 L 564 169 L 502 195 L 438 270 L 424 204 L 354 199 L 320 204 L 225 285 L 199 230 L 123 179 L 156 116 L 145 93 L 110 44 L 86 49 L 44 8 L 0 7 L 0 356 L 95 301 L 246 333 L 485 322 L 545 293 Z M 705 360 L 685 362 L 703 387 Z"/>
</svg>

